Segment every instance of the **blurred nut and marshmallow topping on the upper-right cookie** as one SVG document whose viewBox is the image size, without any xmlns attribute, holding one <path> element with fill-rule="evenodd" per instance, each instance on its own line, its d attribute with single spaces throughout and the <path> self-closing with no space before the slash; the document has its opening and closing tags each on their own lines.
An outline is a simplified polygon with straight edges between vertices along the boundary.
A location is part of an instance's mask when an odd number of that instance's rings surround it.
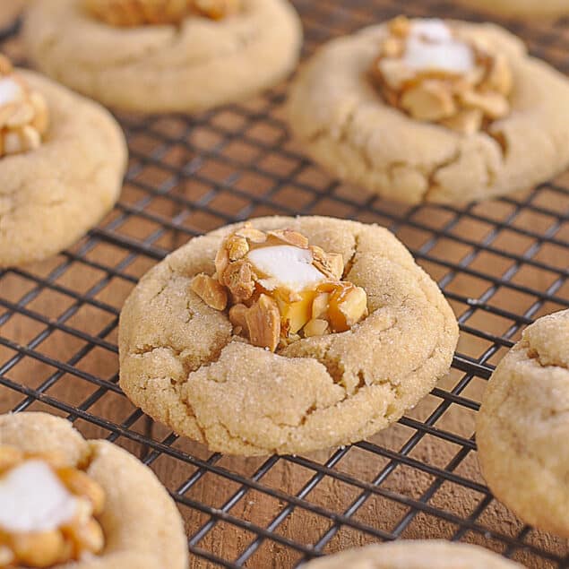
<svg viewBox="0 0 569 569">
<path fill-rule="evenodd" d="M 487 42 L 440 20 L 400 16 L 388 31 L 372 75 L 389 105 L 462 134 L 508 115 L 512 69 Z"/>
</svg>

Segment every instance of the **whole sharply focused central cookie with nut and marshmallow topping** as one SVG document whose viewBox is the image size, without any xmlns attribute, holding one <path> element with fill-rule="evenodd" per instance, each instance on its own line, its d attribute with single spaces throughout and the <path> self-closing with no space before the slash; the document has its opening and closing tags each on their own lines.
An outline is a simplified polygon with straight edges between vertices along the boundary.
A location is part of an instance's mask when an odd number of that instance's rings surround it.
<svg viewBox="0 0 569 569">
<path fill-rule="evenodd" d="M 142 278 L 120 317 L 120 384 L 212 450 L 305 453 L 401 418 L 448 372 L 457 337 L 386 229 L 261 218 L 192 239 Z"/>
</svg>

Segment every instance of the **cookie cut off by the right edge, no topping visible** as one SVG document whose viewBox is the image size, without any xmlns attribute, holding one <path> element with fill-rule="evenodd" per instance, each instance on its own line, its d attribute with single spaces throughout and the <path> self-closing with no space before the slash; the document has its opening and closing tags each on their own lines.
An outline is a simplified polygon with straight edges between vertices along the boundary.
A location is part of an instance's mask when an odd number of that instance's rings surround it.
<svg viewBox="0 0 569 569">
<path fill-rule="evenodd" d="M 524 522 L 569 537 L 569 310 L 539 318 L 488 382 L 478 459 L 496 498 Z"/>
</svg>

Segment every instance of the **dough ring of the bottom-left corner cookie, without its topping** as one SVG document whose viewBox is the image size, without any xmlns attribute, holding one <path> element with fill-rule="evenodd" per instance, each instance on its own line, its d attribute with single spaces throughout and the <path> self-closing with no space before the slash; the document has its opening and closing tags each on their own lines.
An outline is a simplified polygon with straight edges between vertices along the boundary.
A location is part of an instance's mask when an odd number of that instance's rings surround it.
<svg viewBox="0 0 569 569">
<path fill-rule="evenodd" d="M 105 548 L 73 563 L 74 569 L 185 569 L 185 532 L 176 504 L 132 454 L 107 441 L 87 441 L 67 420 L 47 413 L 0 415 L 2 444 L 26 453 L 56 453 L 65 466 L 84 470 L 104 489 L 99 522 Z"/>
</svg>

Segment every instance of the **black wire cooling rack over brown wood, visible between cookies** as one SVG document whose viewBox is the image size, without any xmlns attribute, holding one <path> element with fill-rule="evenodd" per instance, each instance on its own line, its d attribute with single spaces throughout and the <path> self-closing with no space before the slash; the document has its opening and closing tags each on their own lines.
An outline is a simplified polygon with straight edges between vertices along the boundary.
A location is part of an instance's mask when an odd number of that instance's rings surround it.
<svg viewBox="0 0 569 569">
<path fill-rule="evenodd" d="M 397 0 L 296 0 L 306 55 L 401 11 Z M 480 20 L 438 0 L 410 15 Z M 569 71 L 566 22 L 502 22 Z M 17 39 L 3 48 L 17 53 Z M 200 116 L 119 116 L 131 161 L 115 210 L 72 249 L 0 272 L 0 412 L 47 410 L 121 444 L 185 517 L 193 567 L 292 567 L 371 541 L 481 543 L 569 567 L 566 542 L 524 526 L 480 477 L 473 415 L 496 362 L 535 317 L 569 307 L 569 175 L 465 207 L 385 203 L 326 177 L 289 140 L 286 86 Z M 117 386 L 116 325 L 137 279 L 190 237 L 263 214 L 373 221 L 410 247 L 461 324 L 449 377 L 368 442 L 310 456 L 209 453 L 151 422 Z"/>
</svg>

